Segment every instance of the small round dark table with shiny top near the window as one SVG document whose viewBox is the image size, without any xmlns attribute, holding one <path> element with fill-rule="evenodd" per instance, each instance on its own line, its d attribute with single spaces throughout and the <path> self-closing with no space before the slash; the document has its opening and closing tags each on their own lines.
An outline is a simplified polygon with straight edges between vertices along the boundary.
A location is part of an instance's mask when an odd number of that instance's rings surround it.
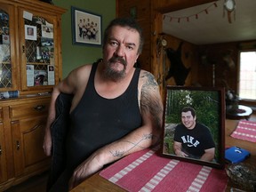
<svg viewBox="0 0 256 192">
<path fill-rule="evenodd" d="M 248 120 L 252 115 L 252 108 L 247 106 L 238 105 L 238 108 L 232 108 L 232 106 L 227 106 L 226 117 L 228 119 L 246 119 Z"/>
</svg>

